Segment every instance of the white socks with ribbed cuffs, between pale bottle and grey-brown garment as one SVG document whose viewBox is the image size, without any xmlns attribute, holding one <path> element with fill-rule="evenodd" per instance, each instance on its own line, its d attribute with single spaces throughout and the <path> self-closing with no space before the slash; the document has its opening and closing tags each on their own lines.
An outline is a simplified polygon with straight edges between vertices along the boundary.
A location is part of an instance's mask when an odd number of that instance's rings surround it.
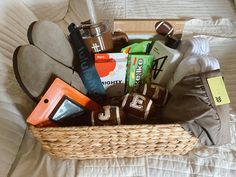
<svg viewBox="0 0 236 177">
<path fill-rule="evenodd" d="M 209 43 L 205 38 L 195 37 L 192 40 L 183 41 L 179 50 L 184 54 L 184 58 L 167 85 L 169 91 L 184 76 L 220 69 L 218 60 L 208 56 Z"/>
</svg>

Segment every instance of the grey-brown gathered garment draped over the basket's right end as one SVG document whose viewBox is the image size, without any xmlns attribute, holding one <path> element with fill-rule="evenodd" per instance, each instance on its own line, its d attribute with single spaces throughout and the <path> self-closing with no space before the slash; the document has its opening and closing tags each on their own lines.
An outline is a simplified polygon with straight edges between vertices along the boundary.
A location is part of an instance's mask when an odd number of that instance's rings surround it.
<svg viewBox="0 0 236 177">
<path fill-rule="evenodd" d="M 180 123 L 205 145 L 230 142 L 229 105 L 215 106 L 207 78 L 219 70 L 185 76 L 171 91 L 162 113 L 163 123 Z"/>
</svg>

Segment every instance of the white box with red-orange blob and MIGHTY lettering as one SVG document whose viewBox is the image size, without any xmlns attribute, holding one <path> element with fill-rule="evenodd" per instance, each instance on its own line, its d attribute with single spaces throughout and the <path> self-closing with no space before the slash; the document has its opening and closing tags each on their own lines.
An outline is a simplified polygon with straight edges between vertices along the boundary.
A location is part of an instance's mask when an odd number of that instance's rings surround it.
<svg viewBox="0 0 236 177">
<path fill-rule="evenodd" d="M 95 67 L 108 97 L 124 95 L 127 58 L 125 53 L 95 54 Z"/>
</svg>

